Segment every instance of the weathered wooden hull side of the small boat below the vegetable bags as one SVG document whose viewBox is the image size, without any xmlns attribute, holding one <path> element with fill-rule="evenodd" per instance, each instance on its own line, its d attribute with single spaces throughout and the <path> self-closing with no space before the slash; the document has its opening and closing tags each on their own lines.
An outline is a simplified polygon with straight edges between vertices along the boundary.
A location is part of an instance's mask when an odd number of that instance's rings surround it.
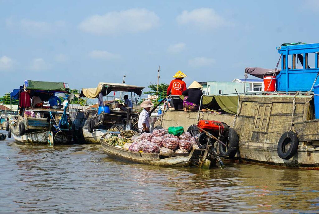
<svg viewBox="0 0 319 214">
<path fill-rule="evenodd" d="M 117 160 L 149 164 L 155 166 L 174 166 L 174 167 L 198 167 L 201 154 L 204 154 L 203 149 L 194 149 L 187 156 L 170 157 L 165 154 L 149 154 L 133 152 L 125 149 L 110 146 L 101 141 L 101 146 L 104 152 L 111 158 Z"/>
</svg>

